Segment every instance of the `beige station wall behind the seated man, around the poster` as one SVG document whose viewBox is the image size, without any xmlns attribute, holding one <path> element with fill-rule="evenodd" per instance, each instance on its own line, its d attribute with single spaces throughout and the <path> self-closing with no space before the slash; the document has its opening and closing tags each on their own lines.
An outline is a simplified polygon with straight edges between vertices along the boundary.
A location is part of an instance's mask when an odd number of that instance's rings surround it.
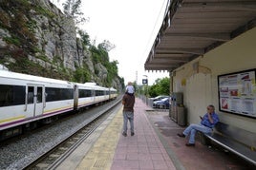
<svg viewBox="0 0 256 170">
<path fill-rule="evenodd" d="M 256 119 L 218 109 L 217 76 L 250 68 L 256 68 L 256 28 L 177 68 L 174 71 L 173 91 L 183 92 L 188 122 L 199 123 L 199 116 L 206 113 L 206 106 L 214 104 L 222 122 L 256 133 Z"/>
</svg>

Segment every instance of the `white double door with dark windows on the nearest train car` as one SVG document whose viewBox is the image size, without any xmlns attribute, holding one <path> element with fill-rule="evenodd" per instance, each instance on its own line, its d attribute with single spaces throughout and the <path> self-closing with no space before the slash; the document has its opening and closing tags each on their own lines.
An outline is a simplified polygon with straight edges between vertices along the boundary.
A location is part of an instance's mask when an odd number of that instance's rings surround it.
<svg viewBox="0 0 256 170">
<path fill-rule="evenodd" d="M 39 116 L 43 114 L 44 109 L 44 86 L 27 86 L 27 112 L 30 116 Z"/>
</svg>

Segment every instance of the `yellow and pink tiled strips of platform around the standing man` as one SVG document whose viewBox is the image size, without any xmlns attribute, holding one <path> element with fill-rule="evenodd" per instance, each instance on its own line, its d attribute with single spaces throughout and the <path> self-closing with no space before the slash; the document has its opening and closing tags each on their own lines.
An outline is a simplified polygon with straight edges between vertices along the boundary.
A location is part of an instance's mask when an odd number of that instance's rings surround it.
<svg viewBox="0 0 256 170">
<path fill-rule="evenodd" d="M 103 131 L 93 147 L 76 167 L 80 169 L 174 169 L 157 134 L 144 114 L 146 105 L 135 104 L 136 135 L 121 134 L 122 110 Z M 116 151 L 115 151 L 116 150 Z"/>
</svg>

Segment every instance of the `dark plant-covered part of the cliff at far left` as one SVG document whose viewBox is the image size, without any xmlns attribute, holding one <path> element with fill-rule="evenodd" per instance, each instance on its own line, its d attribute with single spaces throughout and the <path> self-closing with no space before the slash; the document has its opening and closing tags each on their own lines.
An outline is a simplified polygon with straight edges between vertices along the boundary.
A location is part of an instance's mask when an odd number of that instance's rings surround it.
<svg viewBox="0 0 256 170">
<path fill-rule="evenodd" d="M 28 60 L 28 55 L 38 51 L 33 13 L 53 16 L 53 12 L 37 7 L 28 0 L 0 1 L 0 28 L 8 32 L 3 36 L 7 46 L 0 48 L 0 63 L 8 64 L 12 71 L 38 74 L 43 69 Z"/>
</svg>

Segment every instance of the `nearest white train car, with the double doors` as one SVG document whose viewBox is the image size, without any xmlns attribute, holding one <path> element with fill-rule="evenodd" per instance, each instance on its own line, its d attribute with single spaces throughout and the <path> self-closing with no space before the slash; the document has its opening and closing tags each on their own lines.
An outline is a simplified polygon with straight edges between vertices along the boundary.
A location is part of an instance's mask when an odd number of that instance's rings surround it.
<svg viewBox="0 0 256 170">
<path fill-rule="evenodd" d="M 0 70 L 0 131 L 74 110 L 74 85 Z"/>
</svg>

